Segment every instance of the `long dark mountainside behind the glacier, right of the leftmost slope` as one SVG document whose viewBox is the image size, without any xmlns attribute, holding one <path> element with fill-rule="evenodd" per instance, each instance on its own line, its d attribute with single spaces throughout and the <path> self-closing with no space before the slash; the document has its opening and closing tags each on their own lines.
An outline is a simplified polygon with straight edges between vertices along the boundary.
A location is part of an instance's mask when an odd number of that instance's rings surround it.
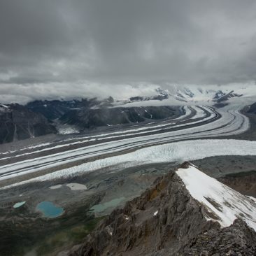
<svg viewBox="0 0 256 256">
<path fill-rule="evenodd" d="M 130 101 L 162 100 L 166 97 L 165 94 L 159 94 L 148 99 L 134 97 Z M 62 124 L 77 125 L 80 129 L 159 120 L 180 115 L 178 107 L 111 108 L 113 101 L 112 97 L 102 101 L 96 98 L 80 101 L 33 101 L 27 104 L 27 108 L 44 115 L 48 120 L 59 120 Z"/>
</svg>

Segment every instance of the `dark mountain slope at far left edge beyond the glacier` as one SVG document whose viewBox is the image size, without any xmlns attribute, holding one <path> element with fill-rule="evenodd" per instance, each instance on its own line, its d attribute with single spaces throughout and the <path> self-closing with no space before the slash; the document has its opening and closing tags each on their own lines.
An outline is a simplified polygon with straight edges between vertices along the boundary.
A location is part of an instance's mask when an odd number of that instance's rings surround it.
<svg viewBox="0 0 256 256">
<path fill-rule="evenodd" d="M 12 104 L 0 111 L 0 143 L 55 133 L 55 127 L 41 114 Z"/>
</svg>

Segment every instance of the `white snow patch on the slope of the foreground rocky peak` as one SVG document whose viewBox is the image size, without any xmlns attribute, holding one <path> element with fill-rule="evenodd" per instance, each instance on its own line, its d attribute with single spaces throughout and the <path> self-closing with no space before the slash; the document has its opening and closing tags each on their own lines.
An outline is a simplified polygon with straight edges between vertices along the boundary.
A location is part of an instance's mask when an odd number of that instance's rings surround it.
<svg viewBox="0 0 256 256">
<path fill-rule="evenodd" d="M 255 201 L 243 196 L 232 188 L 207 176 L 195 166 L 178 169 L 178 176 L 194 199 L 206 206 L 208 220 L 220 222 L 222 227 L 232 225 L 236 218 L 241 218 L 256 231 Z"/>
</svg>

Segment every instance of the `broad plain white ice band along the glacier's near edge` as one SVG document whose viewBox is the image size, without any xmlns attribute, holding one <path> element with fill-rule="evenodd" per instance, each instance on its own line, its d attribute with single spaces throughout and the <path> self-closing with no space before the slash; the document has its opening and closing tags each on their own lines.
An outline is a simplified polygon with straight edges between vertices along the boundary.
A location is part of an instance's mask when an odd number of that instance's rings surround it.
<svg viewBox="0 0 256 256">
<path fill-rule="evenodd" d="M 256 141 L 206 139 L 153 145 L 124 155 L 106 157 L 104 159 L 98 159 L 93 162 L 87 162 L 78 166 L 48 173 L 30 180 L 2 187 L 1 189 L 36 181 L 78 176 L 88 171 L 97 171 L 99 169 L 108 168 L 114 171 L 143 164 L 180 162 L 180 159 L 184 162 L 218 155 L 256 155 Z M 29 173 L 29 171 L 27 173 Z M 17 174 L 13 174 L 13 176 L 17 176 Z"/>
</svg>

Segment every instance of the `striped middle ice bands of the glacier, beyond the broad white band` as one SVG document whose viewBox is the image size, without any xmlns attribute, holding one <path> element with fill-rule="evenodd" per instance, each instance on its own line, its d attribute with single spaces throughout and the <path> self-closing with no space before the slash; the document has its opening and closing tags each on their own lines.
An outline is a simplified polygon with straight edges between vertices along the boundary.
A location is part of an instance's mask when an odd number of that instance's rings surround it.
<svg viewBox="0 0 256 256">
<path fill-rule="evenodd" d="M 217 118 L 218 114 L 214 111 L 208 111 L 208 118 L 202 118 L 197 121 L 192 121 L 189 123 L 179 122 L 179 125 L 171 125 L 171 127 L 165 127 L 165 124 L 163 124 L 162 128 L 154 128 L 150 129 L 150 131 L 141 131 L 140 127 L 134 128 L 132 129 L 131 133 L 126 134 L 126 136 L 129 135 L 130 138 L 126 138 L 124 134 L 118 134 L 118 132 L 115 134 L 105 134 L 106 136 L 103 138 L 98 137 L 97 142 L 104 140 L 104 138 L 108 138 L 108 140 L 111 139 L 110 141 L 97 143 L 95 145 L 87 145 L 76 148 L 74 150 L 66 150 L 43 157 L 34 157 L 32 159 L 14 162 L 12 164 L 6 164 L 1 166 L 0 180 L 17 177 L 19 175 L 35 171 L 41 171 L 46 168 L 56 167 L 60 164 L 76 162 L 81 159 L 90 159 L 96 156 L 113 154 L 120 152 L 121 150 L 136 150 L 137 148 L 142 148 L 149 145 L 170 143 L 181 140 L 184 141 L 191 138 L 228 136 L 240 134 L 241 132 L 244 132 L 248 129 L 249 120 L 248 118 L 241 115 L 239 111 L 219 112 L 220 118 Z M 136 129 L 138 130 L 136 131 Z M 157 134 L 152 134 L 153 131 L 157 131 Z M 93 140 L 96 140 L 96 138 L 92 137 L 88 141 Z M 80 141 L 76 141 L 67 145 L 76 143 L 80 143 Z M 57 145 L 54 148 L 61 148 L 63 146 L 64 145 Z M 52 149 L 52 147 L 43 150 L 48 149 Z M 38 152 L 43 152 L 43 150 L 38 150 Z M 21 155 L 29 154 L 31 154 L 31 152 Z M 21 155 L 16 155 L 15 157 L 19 157 Z M 8 157 L 0 159 L 0 164 L 1 160 L 4 159 L 8 159 Z"/>
</svg>

